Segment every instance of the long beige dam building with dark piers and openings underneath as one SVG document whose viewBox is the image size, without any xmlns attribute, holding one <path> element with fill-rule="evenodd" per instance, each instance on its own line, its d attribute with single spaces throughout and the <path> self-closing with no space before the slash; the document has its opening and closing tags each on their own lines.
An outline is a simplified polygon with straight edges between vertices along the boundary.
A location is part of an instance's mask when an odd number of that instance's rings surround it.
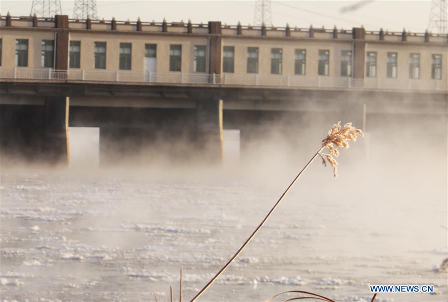
<svg viewBox="0 0 448 302">
<path fill-rule="evenodd" d="M 160 141 L 219 158 L 223 129 L 244 148 L 307 122 L 431 119 L 447 99 L 442 34 L 0 17 L 1 155 L 67 162 L 68 127 L 84 126 L 100 128 L 101 162 Z"/>
</svg>

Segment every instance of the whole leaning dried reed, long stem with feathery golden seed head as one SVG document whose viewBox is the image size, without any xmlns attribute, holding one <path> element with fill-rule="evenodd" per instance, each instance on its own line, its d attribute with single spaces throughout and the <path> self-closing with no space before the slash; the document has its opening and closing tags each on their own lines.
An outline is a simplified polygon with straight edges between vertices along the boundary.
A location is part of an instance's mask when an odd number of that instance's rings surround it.
<svg viewBox="0 0 448 302">
<path fill-rule="evenodd" d="M 337 124 L 334 124 L 330 131 L 328 131 L 327 136 L 322 140 L 322 145 L 320 146 L 319 151 L 317 151 L 313 157 L 308 161 L 308 163 L 300 170 L 299 174 L 294 178 L 293 182 L 288 186 L 288 188 L 283 192 L 282 196 L 280 196 L 279 200 L 275 203 L 275 205 L 271 208 L 268 215 L 263 219 L 263 221 L 258 225 L 258 227 L 252 232 L 252 234 L 249 236 L 249 238 L 243 243 L 243 245 L 238 249 L 238 251 L 235 253 L 235 255 L 230 258 L 230 260 L 216 273 L 216 275 L 194 296 L 190 302 L 195 301 L 199 296 L 201 296 L 212 284 L 215 282 L 215 280 L 227 269 L 227 267 L 235 260 L 235 258 L 240 255 L 240 253 L 243 251 L 243 249 L 249 244 L 249 242 L 254 238 L 254 236 L 258 233 L 258 231 L 261 229 L 261 227 L 265 224 L 265 222 L 268 220 L 268 218 L 271 216 L 271 214 L 274 212 L 274 210 L 277 208 L 277 206 L 280 204 L 280 202 L 283 200 L 285 195 L 290 191 L 290 189 L 294 186 L 294 184 L 299 179 L 300 175 L 303 173 L 303 171 L 308 168 L 308 166 L 314 161 L 314 159 L 317 156 L 320 156 L 322 158 L 323 164 L 326 160 L 331 164 L 333 167 L 333 174 L 334 177 L 337 177 L 336 174 L 336 165 L 337 162 L 334 160 L 334 158 L 331 156 L 338 156 L 339 151 L 337 150 L 338 147 L 344 147 L 348 148 L 348 141 L 356 141 L 356 137 L 358 135 L 364 136 L 361 130 L 356 129 L 351 126 L 351 123 L 347 123 L 344 125 L 344 127 L 341 128 L 341 122 L 339 121 Z M 336 145 L 336 146 L 334 146 Z M 324 148 L 327 148 L 330 154 L 324 154 L 321 153 Z M 325 157 L 325 158 L 324 158 Z"/>
</svg>

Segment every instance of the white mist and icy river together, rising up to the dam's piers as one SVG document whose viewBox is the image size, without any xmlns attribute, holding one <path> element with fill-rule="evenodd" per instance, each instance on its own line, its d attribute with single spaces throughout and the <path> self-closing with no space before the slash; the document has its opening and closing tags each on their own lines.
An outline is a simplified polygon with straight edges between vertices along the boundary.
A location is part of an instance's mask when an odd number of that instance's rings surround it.
<svg viewBox="0 0 448 302">
<path fill-rule="evenodd" d="M 153 301 L 154 290 L 169 300 L 180 267 L 190 299 L 335 121 L 304 119 L 295 137 L 273 131 L 238 160 L 227 150 L 233 157 L 222 167 L 161 156 L 98 168 L 90 148 L 89 156 L 75 148 L 69 169 L 11 167 L 2 158 L 1 299 Z M 263 301 L 303 290 L 361 302 L 370 301 L 371 284 L 436 291 L 376 301 L 447 300 L 447 272 L 435 271 L 448 257 L 446 114 L 372 113 L 366 129 L 341 150 L 338 179 L 318 160 L 310 166 L 201 301 Z M 86 131 L 81 149 L 95 148 L 96 130 Z M 228 135 L 239 144 L 236 132 Z"/>
</svg>

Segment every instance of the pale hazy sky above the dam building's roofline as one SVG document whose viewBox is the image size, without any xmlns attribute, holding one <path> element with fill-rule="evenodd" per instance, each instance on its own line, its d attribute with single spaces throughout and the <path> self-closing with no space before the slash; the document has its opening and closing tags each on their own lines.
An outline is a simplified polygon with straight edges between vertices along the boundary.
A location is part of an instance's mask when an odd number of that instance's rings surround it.
<svg viewBox="0 0 448 302">
<path fill-rule="evenodd" d="M 366 1 L 356 10 L 341 12 L 346 6 L 360 1 L 304 0 L 271 1 L 274 26 L 352 28 L 363 25 L 367 30 L 424 32 L 428 27 L 431 0 Z M 29 15 L 31 0 L 0 0 L 0 12 L 5 15 Z M 168 22 L 191 19 L 193 23 L 221 21 L 229 25 L 254 23 L 256 1 L 246 0 L 97 0 L 98 16 L 104 19 Z M 70 17 L 74 1 L 62 0 L 62 12 Z"/>
</svg>

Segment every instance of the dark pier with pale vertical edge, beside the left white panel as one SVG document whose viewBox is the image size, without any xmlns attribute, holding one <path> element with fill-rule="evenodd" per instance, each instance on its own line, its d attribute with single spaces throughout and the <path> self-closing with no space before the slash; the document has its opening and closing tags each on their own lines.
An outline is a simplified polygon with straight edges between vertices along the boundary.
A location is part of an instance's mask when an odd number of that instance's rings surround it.
<svg viewBox="0 0 448 302">
<path fill-rule="evenodd" d="M 44 151 L 46 159 L 54 164 L 70 163 L 68 109 L 68 97 L 45 99 Z"/>
</svg>

